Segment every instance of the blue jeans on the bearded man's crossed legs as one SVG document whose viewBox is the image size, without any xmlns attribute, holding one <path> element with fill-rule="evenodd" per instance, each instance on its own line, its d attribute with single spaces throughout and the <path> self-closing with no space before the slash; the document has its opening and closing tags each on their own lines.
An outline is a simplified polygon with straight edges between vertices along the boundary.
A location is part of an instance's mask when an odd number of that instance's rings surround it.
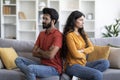
<svg viewBox="0 0 120 80">
<path fill-rule="evenodd" d="M 51 66 L 41 65 L 32 60 L 18 57 L 15 60 L 16 65 L 26 75 L 27 80 L 36 80 L 36 77 L 50 77 L 59 75 L 58 71 Z"/>
</svg>

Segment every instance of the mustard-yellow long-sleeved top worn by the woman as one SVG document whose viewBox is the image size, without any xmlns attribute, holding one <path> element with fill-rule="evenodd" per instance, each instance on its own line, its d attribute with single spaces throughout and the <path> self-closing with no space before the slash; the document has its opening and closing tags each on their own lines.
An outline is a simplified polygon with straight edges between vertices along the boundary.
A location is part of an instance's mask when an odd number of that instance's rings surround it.
<svg viewBox="0 0 120 80">
<path fill-rule="evenodd" d="M 68 47 L 68 53 L 65 61 L 66 65 L 74 65 L 80 64 L 85 66 L 86 64 L 86 54 L 89 54 L 93 51 L 93 44 L 88 39 L 88 47 L 85 48 L 85 41 L 81 35 L 77 35 L 75 32 L 70 32 L 66 35 L 66 44 Z M 83 49 L 84 52 L 80 52 L 79 50 Z"/>
</svg>

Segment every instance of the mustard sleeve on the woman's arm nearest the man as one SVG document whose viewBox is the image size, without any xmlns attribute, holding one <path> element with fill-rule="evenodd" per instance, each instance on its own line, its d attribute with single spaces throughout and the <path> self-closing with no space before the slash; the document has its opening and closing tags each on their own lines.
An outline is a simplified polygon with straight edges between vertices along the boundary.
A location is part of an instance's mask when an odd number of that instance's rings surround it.
<svg viewBox="0 0 120 80">
<path fill-rule="evenodd" d="M 66 36 L 66 43 L 69 52 L 74 58 L 83 58 L 85 57 L 85 54 L 78 52 L 75 42 L 73 40 L 73 36 L 71 34 L 67 34 Z"/>
</svg>

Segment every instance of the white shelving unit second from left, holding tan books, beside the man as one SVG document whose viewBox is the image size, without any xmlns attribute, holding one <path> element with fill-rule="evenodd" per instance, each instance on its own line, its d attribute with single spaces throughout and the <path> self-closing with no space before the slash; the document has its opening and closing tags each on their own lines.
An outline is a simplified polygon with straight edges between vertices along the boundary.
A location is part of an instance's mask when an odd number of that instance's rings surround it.
<svg viewBox="0 0 120 80">
<path fill-rule="evenodd" d="M 18 0 L 17 5 L 17 39 L 34 41 L 36 39 L 36 1 Z"/>
</svg>

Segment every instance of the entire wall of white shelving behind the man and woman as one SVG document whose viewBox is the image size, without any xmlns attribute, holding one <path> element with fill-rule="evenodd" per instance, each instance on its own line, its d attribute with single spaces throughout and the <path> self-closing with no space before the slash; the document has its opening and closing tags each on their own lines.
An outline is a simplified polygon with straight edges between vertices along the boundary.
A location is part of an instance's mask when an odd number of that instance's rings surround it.
<svg viewBox="0 0 120 80">
<path fill-rule="evenodd" d="M 95 0 L 1 0 L 1 37 L 35 41 L 42 30 L 42 6 L 55 8 L 59 13 L 56 27 L 63 32 L 68 15 L 82 11 L 85 16 L 85 31 L 89 37 L 95 35 Z M 5 6 L 10 8 L 5 13 Z"/>
</svg>

